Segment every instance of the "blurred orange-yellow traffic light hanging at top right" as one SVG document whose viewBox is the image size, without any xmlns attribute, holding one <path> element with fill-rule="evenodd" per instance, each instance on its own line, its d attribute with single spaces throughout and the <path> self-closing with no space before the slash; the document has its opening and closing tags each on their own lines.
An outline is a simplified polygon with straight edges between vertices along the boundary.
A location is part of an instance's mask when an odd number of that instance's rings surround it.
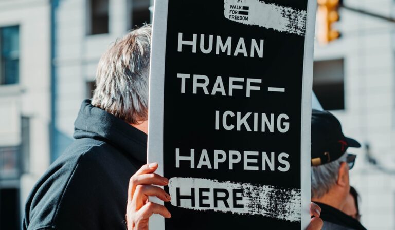
<svg viewBox="0 0 395 230">
<path fill-rule="evenodd" d="M 340 32 L 333 29 L 333 23 L 339 21 L 340 0 L 317 0 L 318 2 L 318 41 L 327 44 L 338 39 Z"/>
</svg>

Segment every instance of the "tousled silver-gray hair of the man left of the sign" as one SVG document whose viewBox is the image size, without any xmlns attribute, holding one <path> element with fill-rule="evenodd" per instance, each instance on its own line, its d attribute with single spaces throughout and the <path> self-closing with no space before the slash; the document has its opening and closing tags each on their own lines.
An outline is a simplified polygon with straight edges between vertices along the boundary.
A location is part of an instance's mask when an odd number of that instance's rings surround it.
<svg viewBox="0 0 395 230">
<path fill-rule="evenodd" d="M 130 124 L 148 120 L 151 32 L 145 25 L 115 41 L 96 72 L 92 105 Z"/>
</svg>

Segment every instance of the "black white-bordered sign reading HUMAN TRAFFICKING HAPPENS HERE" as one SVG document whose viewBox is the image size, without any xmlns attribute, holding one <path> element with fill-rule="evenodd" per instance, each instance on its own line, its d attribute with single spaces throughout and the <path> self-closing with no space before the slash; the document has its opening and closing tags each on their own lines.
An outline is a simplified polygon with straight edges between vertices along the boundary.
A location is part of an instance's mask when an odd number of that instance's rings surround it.
<svg viewBox="0 0 395 230">
<path fill-rule="evenodd" d="M 314 19 L 313 0 L 156 0 L 148 161 L 172 217 L 150 229 L 308 225 Z"/>
</svg>

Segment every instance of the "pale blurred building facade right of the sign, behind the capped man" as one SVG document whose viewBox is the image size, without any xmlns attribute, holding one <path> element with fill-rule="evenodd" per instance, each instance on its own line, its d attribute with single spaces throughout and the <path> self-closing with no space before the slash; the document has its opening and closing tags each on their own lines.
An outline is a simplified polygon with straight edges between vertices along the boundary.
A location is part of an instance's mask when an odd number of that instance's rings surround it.
<svg viewBox="0 0 395 230">
<path fill-rule="evenodd" d="M 344 4 L 393 17 L 393 0 L 344 0 Z M 319 26 L 319 25 L 318 25 Z M 350 183 L 362 198 L 367 229 L 395 229 L 395 23 L 340 9 L 340 39 L 315 45 L 314 86 L 324 109 L 345 135 L 364 145 Z"/>
</svg>

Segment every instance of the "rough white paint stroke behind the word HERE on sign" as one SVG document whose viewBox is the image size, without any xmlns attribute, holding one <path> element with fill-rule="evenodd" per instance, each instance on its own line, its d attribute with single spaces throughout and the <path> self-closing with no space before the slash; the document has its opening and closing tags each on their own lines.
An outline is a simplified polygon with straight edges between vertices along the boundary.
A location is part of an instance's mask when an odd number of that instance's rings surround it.
<svg viewBox="0 0 395 230">
<path fill-rule="evenodd" d="M 201 178 L 180 178 L 173 177 L 169 180 L 169 193 L 172 197 L 171 204 L 177 206 L 176 188 L 180 188 L 179 194 L 191 195 L 191 188 L 195 189 L 195 205 L 192 207 L 191 200 L 179 200 L 178 207 L 194 210 L 214 210 L 216 212 L 231 212 L 239 215 L 261 215 L 264 217 L 277 218 L 280 220 L 300 222 L 301 220 L 301 194 L 300 189 L 282 189 L 274 186 L 255 186 L 248 183 L 219 182 L 217 180 Z M 204 193 L 208 196 L 204 203 L 210 207 L 199 207 L 199 188 L 210 188 L 209 192 Z M 219 201 L 218 207 L 213 207 L 214 188 L 227 189 L 229 191 L 229 207 L 224 202 Z M 237 204 L 243 204 L 242 208 L 232 207 L 232 189 L 243 189 L 243 194 L 238 195 L 242 200 Z"/>
</svg>

